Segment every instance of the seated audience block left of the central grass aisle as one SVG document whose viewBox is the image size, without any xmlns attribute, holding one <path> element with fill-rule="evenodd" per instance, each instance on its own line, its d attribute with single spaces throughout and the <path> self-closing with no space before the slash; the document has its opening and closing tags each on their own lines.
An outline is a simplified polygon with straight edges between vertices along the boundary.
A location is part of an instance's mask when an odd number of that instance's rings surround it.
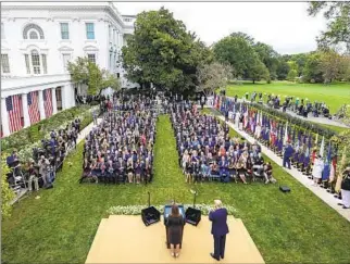
<svg viewBox="0 0 350 264">
<path fill-rule="evenodd" d="M 116 110 L 116 111 L 113 111 Z M 157 112 L 147 97 L 114 97 L 86 137 L 83 181 L 148 184 L 153 176 Z"/>
</svg>

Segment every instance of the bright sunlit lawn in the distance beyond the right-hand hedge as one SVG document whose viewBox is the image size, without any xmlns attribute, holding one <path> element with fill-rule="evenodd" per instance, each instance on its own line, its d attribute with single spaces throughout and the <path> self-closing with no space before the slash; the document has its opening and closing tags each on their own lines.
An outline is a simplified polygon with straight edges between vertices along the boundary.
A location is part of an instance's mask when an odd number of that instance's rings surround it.
<svg viewBox="0 0 350 264">
<path fill-rule="evenodd" d="M 242 97 L 246 92 L 250 95 L 257 91 L 263 93 L 280 95 L 283 101 L 284 96 L 299 97 L 300 99 L 309 99 L 312 102 L 325 102 L 330 113 L 336 113 L 345 103 L 350 103 L 350 84 L 293 84 L 289 81 L 266 83 L 242 83 L 242 85 L 227 86 L 227 96 L 234 97 L 238 95 Z"/>
</svg>

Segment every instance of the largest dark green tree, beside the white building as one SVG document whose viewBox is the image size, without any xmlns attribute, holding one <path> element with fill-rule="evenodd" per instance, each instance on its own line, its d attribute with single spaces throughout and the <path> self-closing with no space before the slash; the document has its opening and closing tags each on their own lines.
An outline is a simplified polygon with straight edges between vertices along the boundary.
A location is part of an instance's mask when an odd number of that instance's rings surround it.
<svg viewBox="0 0 350 264">
<path fill-rule="evenodd" d="M 197 67 L 212 59 L 209 48 L 164 8 L 137 15 L 122 53 L 130 80 L 176 92 L 193 91 Z"/>
</svg>

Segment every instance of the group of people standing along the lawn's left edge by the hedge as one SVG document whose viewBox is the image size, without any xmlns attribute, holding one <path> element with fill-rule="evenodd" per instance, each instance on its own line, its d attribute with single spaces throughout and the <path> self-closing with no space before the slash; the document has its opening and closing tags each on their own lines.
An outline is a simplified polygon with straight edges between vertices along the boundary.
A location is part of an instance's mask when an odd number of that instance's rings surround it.
<svg viewBox="0 0 350 264">
<path fill-rule="evenodd" d="M 55 173 L 62 169 L 63 160 L 66 154 L 76 148 L 78 133 L 80 131 L 80 120 L 76 118 L 64 129 L 50 133 L 49 140 L 41 140 L 42 147 L 33 150 L 33 158 L 28 162 L 22 162 L 17 150 L 13 150 L 7 158 L 11 172 L 7 179 L 14 190 L 21 188 L 29 191 L 38 191 L 39 188 L 52 188 Z"/>
</svg>

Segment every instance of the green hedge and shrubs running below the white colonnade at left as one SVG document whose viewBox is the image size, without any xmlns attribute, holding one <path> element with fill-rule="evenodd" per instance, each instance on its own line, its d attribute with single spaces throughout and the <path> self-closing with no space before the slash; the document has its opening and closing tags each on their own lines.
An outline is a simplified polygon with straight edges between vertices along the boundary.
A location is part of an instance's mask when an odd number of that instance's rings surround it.
<svg viewBox="0 0 350 264">
<path fill-rule="evenodd" d="M 63 123 L 66 123 L 67 121 L 73 121 L 74 118 L 80 116 L 82 114 L 85 114 L 85 113 L 89 114 L 89 110 L 90 110 L 90 106 L 75 106 L 75 108 L 59 112 L 58 114 L 51 116 L 50 118 L 42 120 L 33 126 L 26 127 L 24 129 L 21 129 L 17 133 L 10 135 L 9 137 L 2 138 L 1 150 L 10 152 L 12 149 L 21 149 L 24 146 L 37 142 L 43 139 L 45 135 L 47 135 L 52 129 L 57 129 Z M 85 127 L 90 122 L 92 122 L 92 117 L 88 118 L 88 114 L 86 114 L 87 118 L 84 118 L 82 121 L 82 126 L 80 126 L 82 128 Z"/>
</svg>

